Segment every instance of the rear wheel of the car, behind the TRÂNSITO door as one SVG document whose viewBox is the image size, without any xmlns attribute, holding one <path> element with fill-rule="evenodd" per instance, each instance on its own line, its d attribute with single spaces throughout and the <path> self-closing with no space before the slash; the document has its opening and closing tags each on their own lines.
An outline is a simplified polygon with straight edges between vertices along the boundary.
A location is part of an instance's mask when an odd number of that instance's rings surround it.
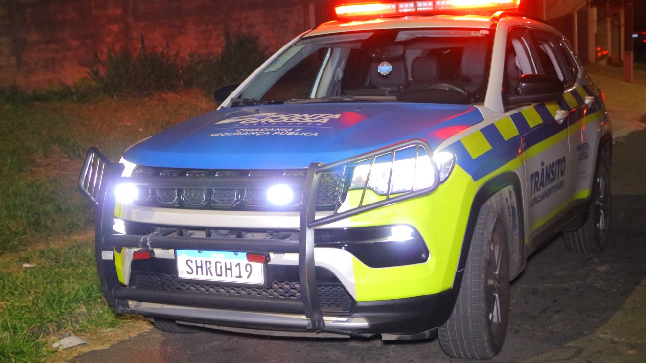
<svg viewBox="0 0 646 363">
<path fill-rule="evenodd" d="M 585 224 L 564 232 L 565 247 L 575 253 L 598 254 L 608 245 L 610 229 L 610 162 L 607 152 L 599 152 L 592 180 L 592 205 Z"/>
</svg>

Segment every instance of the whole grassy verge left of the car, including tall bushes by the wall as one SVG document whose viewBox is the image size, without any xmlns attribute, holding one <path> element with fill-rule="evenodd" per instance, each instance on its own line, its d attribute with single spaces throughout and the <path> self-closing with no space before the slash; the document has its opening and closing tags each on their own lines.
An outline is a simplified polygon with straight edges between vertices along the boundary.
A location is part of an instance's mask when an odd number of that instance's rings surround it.
<svg viewBox="0 0 646 363">
<path fill-rule="evenodd" d="M 136 141 L 215 109 L 205 94 L 265 58 L 252 36 L 226 34 L 220 54 L 187 58 L 142 37 L 136 54 L 109 50 L 74 85 L 0 90 L 0 362 L 50 360 L 62 333 L 128 319 L 99 288 L 94 210 L 76 189 L 85 150 L 118 161 Z"/>
</svg>

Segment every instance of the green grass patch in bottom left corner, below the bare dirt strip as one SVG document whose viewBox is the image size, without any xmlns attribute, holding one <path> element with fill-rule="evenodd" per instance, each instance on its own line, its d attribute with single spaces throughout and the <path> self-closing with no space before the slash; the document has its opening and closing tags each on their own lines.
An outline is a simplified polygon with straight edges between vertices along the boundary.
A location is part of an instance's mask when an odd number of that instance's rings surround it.
<svg viewBox="0 0 646 363">
<path fill-rule="evenodd" d="M 34 267 L 16 270 L 24 262 Z M 0 362 L 45 360 L 54 353 L 45 338 L 61 330 L 82 335 L 123 323 L 103 301 L 88 241 L 20 254 L 0 269 Z"/>
</svg>

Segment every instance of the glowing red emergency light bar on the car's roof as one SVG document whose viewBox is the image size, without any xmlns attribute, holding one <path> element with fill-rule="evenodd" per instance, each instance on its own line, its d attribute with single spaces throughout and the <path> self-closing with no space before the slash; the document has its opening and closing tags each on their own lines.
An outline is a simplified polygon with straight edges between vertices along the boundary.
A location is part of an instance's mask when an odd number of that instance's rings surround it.
<svg viewBox="0 0 646 363">
<path fill-rule="evenodd" d="M 520 0 L 432 0 L 399 1 L 394 3 L 362 3 L 335 6 L 337 17 L 405 16 L 432 14 L 442 10 L 509 10 L 517 8 Z"/>
</svg>

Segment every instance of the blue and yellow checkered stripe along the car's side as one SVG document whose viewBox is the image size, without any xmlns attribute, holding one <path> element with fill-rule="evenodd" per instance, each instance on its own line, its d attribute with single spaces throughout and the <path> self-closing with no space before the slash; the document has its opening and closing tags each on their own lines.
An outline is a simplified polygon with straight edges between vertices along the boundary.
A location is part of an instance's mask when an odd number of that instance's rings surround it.
<svg viewBox="0 0 646 363">
<path fill-rule="evenodd" d="M 581 107 L 588 95 L 585 88 L 576 87 L 566 92 L 558 102 L 525 107 L 464 136 L 447 149 L 455 153 L 457 163 L 474 180 L 480 180 L 520 156 L 523 150 L 567 130 L 567 122 L 560 125 L 551 122 L 557 110 L 569 110 L 576 120 L 596 112 L 594 104 Z M 541 125 L 543 127 L 539 127 Z M 521 138 L 521 135 L 525 135 L 525 138 Z"/>
</svg>

